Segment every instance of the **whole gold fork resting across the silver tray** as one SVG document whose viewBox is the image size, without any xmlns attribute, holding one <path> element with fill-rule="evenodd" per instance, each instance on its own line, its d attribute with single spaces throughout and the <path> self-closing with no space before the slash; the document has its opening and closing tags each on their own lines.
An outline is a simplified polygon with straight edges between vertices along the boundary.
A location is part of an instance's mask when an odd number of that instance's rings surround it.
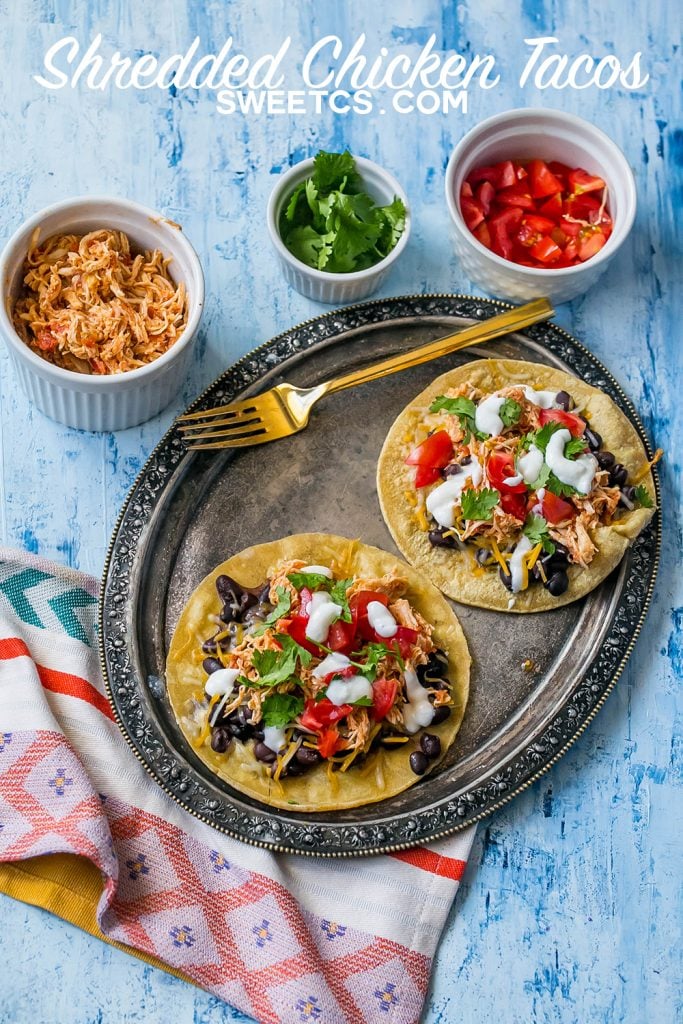
<svg viewBox="0 0 683 1024">
<path fill-rule="evenodd" d="M 548 319 L 554 309 L 548 299 L 535 299 L 523 306 L 508 309 L 498 316 L 473 324 L 455 334 L 449 334 L 428 345 L 400 352 L 381 362 L 353 370 L 343 377 L 324 381 L 315 387 L 296 387 L 294 384 L 276 384 L 263 394 L 216 406 L 200 413 L 186 413 L 176 422 L 184 431 L 183 441 L 191 451 L 204 449 L 246 447 L 263 444 L 296 434 L 308 423 L 310 411 L 326 394 L 334 394 L 356 384 L 376 381 L 399 370 L 418 367 L 429 359 L 456 352 L 459 348 L 480 345 L 492 338 L 521 331 L 522 328 Z M 197 443 L 201 441 L 202 443 Z"/>
</svg>

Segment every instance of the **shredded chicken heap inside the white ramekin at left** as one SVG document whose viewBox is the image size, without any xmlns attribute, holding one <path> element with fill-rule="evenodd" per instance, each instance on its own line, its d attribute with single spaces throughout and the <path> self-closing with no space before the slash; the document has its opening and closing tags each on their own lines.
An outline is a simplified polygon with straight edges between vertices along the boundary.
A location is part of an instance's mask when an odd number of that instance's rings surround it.
<svg viewBox="0 0 683 1024">
<path fill-rule="evenodd" d="M 187 326 L 188 299 L 160 249 L 135 251 L 128 236 L 31 238 L 23 290 L 11 309 L 18 336 L 38 355 L 81 374 L 122 374 L 154 361 Z"/>
</svg>

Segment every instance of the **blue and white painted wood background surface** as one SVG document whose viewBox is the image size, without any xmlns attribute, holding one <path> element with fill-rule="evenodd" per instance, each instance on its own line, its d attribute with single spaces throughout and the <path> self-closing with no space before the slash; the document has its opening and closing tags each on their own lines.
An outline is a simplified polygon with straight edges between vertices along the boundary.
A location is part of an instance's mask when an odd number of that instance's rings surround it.
<svg viewBox="0 0 683 1024">
<path fill-rule="evenodd" d="M 48 93 L 31 78 L 68 33 L 87 44 L 101 32 L 109 51 L 162 54 L 196 35 L 211 51 L 230 33 L 258 54 L 291 35 L 300 57 L 327 33 L 350 44 L 361 31 L 374 50 L 417 54 L 433 32 L 466 55 L 490 51 L 503 80 L 472 91 L 467 115 L 245 120 L 221 117 L 204 94 Z M 540 35 L 557 36 L 572 56 L 613 52 L 628 62 L 642 50 L 650 81 L 636 93 L 522 91 L 523 39 Z M 682 1019 L 680 38 L 676 0 L 628 9 L 620 0 L 0 0 L 0 241 L 53 201 L 118 194 L 182 223 L 207 275 L 190 376 L 174 407 L 142 427 L 89 435 L 49 422 L 29 408 L 0 352 L 0 540 L 95 574 L 117 511 L 171 418 L 237 356 L 319 311 L 286 287 L 268 249 L 265 204 L 284 167 L 321 146 L 348 145 L 399 178 L 415 228 L 386 295 L 475 291 L 452 255 L 442 182 L 453 145 L 482 117 L 516 105 L 581 114 L 635 169 L 632 237 L 597 289 L 560 307 L 557 319 L 613 371 L 667 450 L 656 596 L 628 671 L 587 734 L 480 828 L 426 1024 Z M 0 914 L 2 1022 L 245 1020 L 40 910 L 1 898 Z"/>
</svg>

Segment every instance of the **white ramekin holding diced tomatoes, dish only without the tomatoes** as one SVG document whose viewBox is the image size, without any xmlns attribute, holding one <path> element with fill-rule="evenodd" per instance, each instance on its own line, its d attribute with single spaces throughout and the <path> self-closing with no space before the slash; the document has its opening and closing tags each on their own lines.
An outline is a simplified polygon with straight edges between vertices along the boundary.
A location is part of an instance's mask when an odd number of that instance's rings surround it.
<svg viewBox="0 0 683 1024">
<path fill-rule="evenodd" d="M 531 159 L 582 167 L 605 180 L 614 227 L 603 248 L 579 266 L 558 270 L 519 266 L 482 246 L 463 219 L 460 189 L 471 170 L 502 160 Z M 618 146 L 588 121 L 561 111 L 516 110 L 482 121 L 461 139 L 446 168 L 445 201 L 456 255 L 471 281 L 500 298 L 543 295 L 557 303 L 581 295 L 606 270 L 633 226 L 636 184 Z"/>
</svg>

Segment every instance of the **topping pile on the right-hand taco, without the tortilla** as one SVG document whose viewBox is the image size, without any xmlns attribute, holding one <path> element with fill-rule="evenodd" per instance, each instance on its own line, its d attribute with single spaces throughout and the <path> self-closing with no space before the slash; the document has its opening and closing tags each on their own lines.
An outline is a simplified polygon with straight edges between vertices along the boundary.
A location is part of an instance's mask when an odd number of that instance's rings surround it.
<svg viewBox="0 0 683 1024">
<path fill-rule="evenodd" d="M 432 402 L 407 443 L 420 528 L 434 547 L 469 551 L 474 573 L 498 570 L 513 595 L 541 584 L 559 597 L 569 565 L 596 554 L 595 527 L 652 506 L 566 391 L 465 383 Z"/>
</svg>

